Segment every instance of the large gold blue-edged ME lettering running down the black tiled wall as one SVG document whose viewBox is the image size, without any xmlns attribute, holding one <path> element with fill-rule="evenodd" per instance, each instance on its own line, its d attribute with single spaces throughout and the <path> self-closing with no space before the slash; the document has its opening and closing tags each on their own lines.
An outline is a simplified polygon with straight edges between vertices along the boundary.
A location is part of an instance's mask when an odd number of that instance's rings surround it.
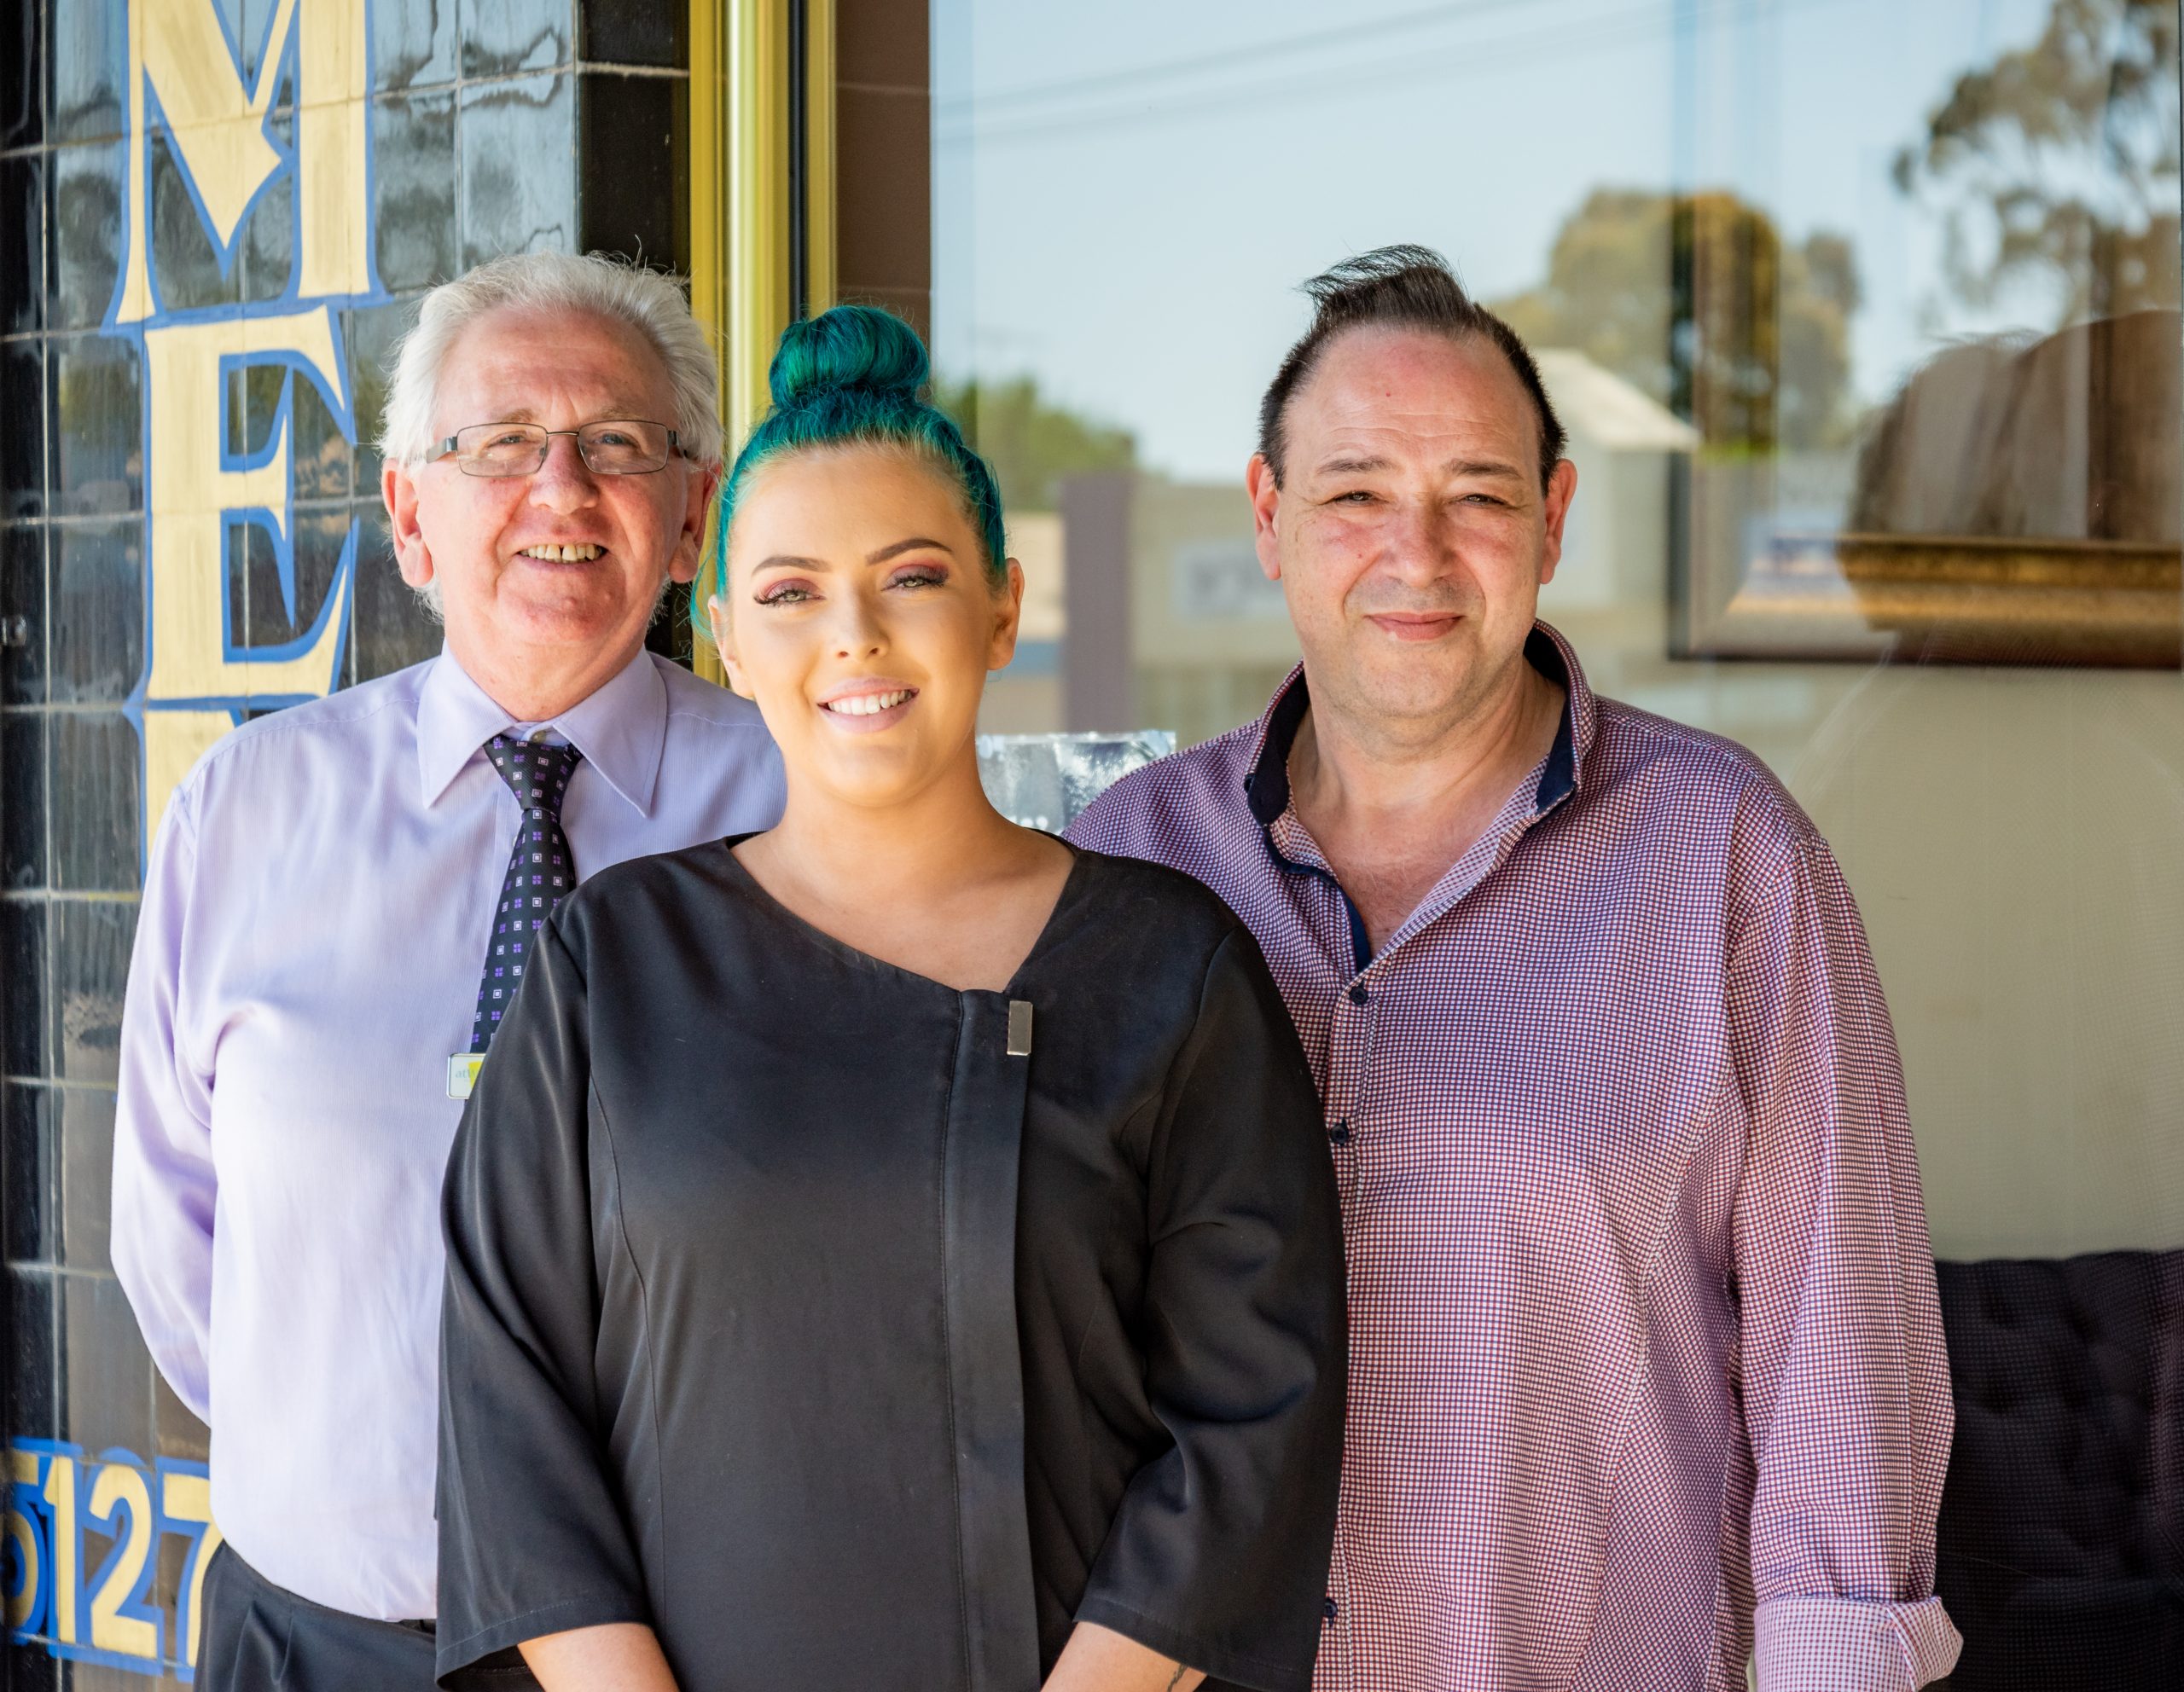
<svg viewBox="0 0 2184 1692">
<path fill-rule="evenodd" d="M 332 692 L 349 627 L 358 526 L 319 607 L 295 603 L 290 397 L 297 378 L 356 441 L 341 310 L 382 299 L 371 266 L 371 92 L 367 0 L 277 0 L 256 76 L 214 0 L 127 0 L 129 127 L 124 255 L 109 334 L 133 341 L 144 391 L 144 675 L 129 701 L 144 742 L 146 838 L 199 753 L 245 710 Z M 282 83 L 293 87 L 273 120 Z M 190 210 L 232 264 L 245 221 L 293 183 L 295 269 L 280 299 L 168 310 L 151 231 L 153 148 L 175 164 Z M 271 439 L 234 452 L 238 371 L 286 369 Z M 232 624 L 234 539 L 258 526 L 275 557 L 293 638 L 249 646 Z"/>
</svg>

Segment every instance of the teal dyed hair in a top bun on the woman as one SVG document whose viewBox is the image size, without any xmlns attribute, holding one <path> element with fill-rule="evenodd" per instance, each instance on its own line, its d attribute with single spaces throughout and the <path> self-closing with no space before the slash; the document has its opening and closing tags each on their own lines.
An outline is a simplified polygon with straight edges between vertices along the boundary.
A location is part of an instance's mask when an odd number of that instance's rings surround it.
<svg viewBox="0 0 2184 1692">
<path fill-rule="evenodd" d="M 690 589 L 690 616 L 699 629 L 705 629 L 703 596 L 727 596 L 727 531 L 743 489 L 773 458 L 812 448 L 898 448 L 930 463 L 963 493 L 970 526 L 985 548 L 987 579 L 1005 579 L 1009 550 L 1000 489 L 954 421 L 924 400 L 930 371 L 917 330 L 876 306 L 836 306 L 782 330 L 767 371 L 773 408 L 721 482 L 712 583 L 699 576 Z"/>
</svg>

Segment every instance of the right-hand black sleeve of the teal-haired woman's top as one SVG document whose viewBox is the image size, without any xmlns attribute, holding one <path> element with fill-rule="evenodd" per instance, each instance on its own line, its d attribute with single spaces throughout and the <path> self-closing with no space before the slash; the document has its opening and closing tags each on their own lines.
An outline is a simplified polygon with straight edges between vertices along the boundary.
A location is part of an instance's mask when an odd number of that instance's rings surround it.
<svg viewBox="0 0 2184 1692">
<path fill-rule="evenodd" d="M 1129 1482 L 1079 1620 L 1216 1681 L 1310 1685 L 1341 1476 L 1341 1205 L 1310 1070 L 1243 930 L 1153 1135 L 1144 1378 L 1173 1447 Z"/>
</svg>

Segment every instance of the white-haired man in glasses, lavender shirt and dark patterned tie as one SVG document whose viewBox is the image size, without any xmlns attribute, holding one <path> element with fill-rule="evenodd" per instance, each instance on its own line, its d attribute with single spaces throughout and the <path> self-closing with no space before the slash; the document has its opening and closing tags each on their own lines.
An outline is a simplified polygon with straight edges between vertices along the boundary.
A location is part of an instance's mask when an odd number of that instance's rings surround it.
<svg viewBox="0 0 2184 1692">
<path fill-rule="evenodd" d="M 716 382 L 642 269 L 531 253 L 426 295 L 382 450 L 441 655 L 227 736 L 159 825 L 114 1264 L 212 1428 L 212 1692 L 435 1683 L 461 1100 L 577 875 L 780 814 L 756 710 L 644 648 L 697 574 Z"/>
</svg>

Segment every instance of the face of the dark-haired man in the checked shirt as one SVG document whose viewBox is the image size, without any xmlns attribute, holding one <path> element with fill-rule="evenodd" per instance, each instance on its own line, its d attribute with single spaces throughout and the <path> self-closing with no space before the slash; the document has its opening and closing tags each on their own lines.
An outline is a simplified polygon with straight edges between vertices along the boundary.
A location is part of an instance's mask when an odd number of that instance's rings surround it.
<svg viewBox="0 0 2184 1692">
<path fill-rule="evenodd" d="M 1433 736 L 1507 686 L 1562 557 L 1577 472 L 1540 474 L 1540 417 L 1483 336 L 1358 327 L 1282 415 L 1284 480 L 1251 463 L 1258 557 L 1315 705 Z"/>
</svg>

